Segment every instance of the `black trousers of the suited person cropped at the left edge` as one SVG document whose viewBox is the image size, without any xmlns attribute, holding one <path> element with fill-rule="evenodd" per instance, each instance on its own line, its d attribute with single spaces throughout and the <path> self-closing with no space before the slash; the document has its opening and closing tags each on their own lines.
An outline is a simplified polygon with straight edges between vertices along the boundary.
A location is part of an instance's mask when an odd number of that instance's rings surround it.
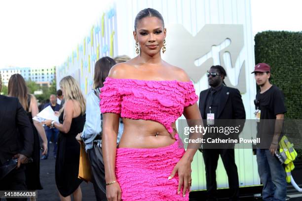
<svg viewBox="0 0 302 201">
<path fill-rule="evenodd" d="M 0 191 L 27 191 L 24 170 L 24 165 L 21 165 L 18 169 L 13 169 L 3 179 L 1 179 Z M 27 201 L 27 198 L 11 198 L 8 200 Z"/>
</svg>

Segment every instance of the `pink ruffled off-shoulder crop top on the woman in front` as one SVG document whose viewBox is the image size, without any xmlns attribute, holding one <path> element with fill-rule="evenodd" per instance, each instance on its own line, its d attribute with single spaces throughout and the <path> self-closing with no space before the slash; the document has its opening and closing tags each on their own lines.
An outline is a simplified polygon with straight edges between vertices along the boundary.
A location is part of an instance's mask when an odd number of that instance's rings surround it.
<svg viewBox="0 0 302 201">
<path fill-rule="evenodd" d="M 177 80 L 153 81 L 107 77 L 101 89 L 102 113 L 122 118 L 152 120 L 173 133 L 172 123 L 184 107 L 198 100 L 193 83 Z"/>
</svg>

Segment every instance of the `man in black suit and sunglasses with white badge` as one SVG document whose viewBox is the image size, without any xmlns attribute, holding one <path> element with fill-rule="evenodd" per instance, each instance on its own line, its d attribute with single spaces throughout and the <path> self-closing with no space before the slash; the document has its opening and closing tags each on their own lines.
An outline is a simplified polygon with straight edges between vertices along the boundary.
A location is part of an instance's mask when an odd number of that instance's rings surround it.
<svg viewBox="0 0 302 201">
<path fill-rule="evenodd" d="M 214 119 L 214 121 L 220 119 L 221 121 L 228 122 L 228 125 L 225 126 L 234 126 L 236 120 L 241 120 L 241 122 L 243 120 L 244 125 L 245 110 L 240 92 L 237 89 L 226 86 L 224 82 L 224 79 L 227 76 L 225 69 L 221 66 L 212 66 L 208 71 L 207 76 L 211 88 L 200 92 L 199 96 L 199 110 L 202 119 L 204 119 L 204 121 L 207 119 Z M 241 128 L 243 128 L 243 125 L 241 125 Z M 215 136 L 223 137 L 223 135 L 226 136 L 225 134 Z M 205 134 L 205 138 L 206 137 Z M 227 171 L 228 184 L 231 191 L 229 200 L 239 200 L 238 172 L 235 164 L 233 147 L 234 146 L 227 148 L 210 147 L 202 150 L 206 170 L 208 201 L 217 201 L 216 168 L 219 155 L 221 156 Z"/>
</svg>

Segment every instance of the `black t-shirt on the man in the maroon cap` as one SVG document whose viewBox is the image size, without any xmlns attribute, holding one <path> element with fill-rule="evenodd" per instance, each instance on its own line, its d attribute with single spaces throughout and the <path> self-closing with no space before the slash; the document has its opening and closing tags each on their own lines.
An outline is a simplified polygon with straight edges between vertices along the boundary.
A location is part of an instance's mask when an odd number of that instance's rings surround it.
<svg viewBox="0 0 302 201">
<path fill-rule="evenodd" d="M 272 85 L 263 94 L 258 91 L 256 100 L 259 100 L 259 109 L 261 110 L 258 137 L 261 138 L 261 148 L 268 149 L 275 130 L 276 115 L 286 113 L 284 95 L 278 87 Z M 283 132 L 281 132 L 280 137 L 282 136 Z"/>
</svg>

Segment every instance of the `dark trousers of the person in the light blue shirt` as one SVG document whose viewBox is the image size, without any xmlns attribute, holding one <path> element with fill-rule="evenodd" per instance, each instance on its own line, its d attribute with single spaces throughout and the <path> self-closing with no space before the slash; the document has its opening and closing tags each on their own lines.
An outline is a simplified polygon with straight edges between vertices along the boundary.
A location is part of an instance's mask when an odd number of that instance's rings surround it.
<svg viewBox="0 0 302 201">
<path fill-rule="evenodd" d="M 92 183 L 97 201 L 107 201 L 105 167 L 103 161 L 102 148 L 93 144 L 92 149 L 88 149 L 88 156 L 92 171 Z"/>
</svg>

